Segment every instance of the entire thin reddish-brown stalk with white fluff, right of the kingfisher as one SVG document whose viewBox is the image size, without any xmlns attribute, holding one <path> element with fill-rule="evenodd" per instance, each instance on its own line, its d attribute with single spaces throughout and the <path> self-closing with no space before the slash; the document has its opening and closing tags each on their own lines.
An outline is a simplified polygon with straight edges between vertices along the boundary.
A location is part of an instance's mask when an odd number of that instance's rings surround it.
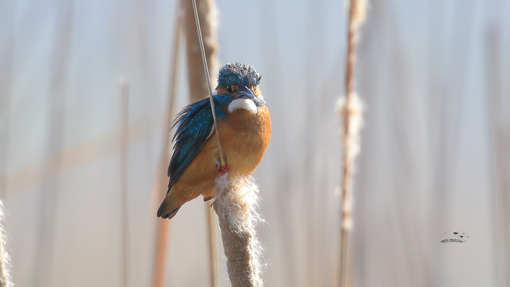
<svg viewBox="0 0 510 287">
<path fill-rule="evenodd" d="M 363 122 L 361 100 L 354 93 L 354 61 L 356 32 L 365 20 L 366 0 L 350 0 L 348 24 L 347 71 L 345 97 L 339 100 L 339 113 L 344 122 L 343 131 L 343 177 L 342 177 L 342 219 L 340 246 L 340 286 L 347 283 L 348 236 L 352 228 L 352 175 L 354 159 L 360 152 L 360 129 Z"/>
</svg>

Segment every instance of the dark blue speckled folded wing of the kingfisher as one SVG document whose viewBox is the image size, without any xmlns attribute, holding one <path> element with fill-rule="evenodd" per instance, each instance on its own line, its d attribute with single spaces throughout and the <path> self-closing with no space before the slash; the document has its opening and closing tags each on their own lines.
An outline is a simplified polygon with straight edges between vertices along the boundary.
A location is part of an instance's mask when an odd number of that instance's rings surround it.
<svg viewBox="0 0 510 287">
<path fill-rule="evenodd" d="M 218 102 L 219 96 L 214 99 L 216 116 L 224 118 Z M 168 166 L 168 191 L 209 138 L 213 128 L 211 111 L 209 98 L 203 98 L 186 106 L 175 118 L 173 126 L 177 125 L 177 130 L 173 136 L 175 144 Z"/>
</svg>

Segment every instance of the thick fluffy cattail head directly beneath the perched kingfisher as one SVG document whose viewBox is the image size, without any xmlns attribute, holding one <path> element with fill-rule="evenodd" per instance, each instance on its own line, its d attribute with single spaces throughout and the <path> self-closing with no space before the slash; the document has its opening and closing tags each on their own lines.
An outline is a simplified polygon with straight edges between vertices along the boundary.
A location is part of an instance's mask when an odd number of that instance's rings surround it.
<svg viewBox="0 0 510 287">
<path fill-rule="evenodd" d="M 259 187 L 251 176 L 216 179 L 214 211 L 218 215 L 221 239 L 232 287 L 262 287 L 264 249 L 255 227 L 264 222 L 258 213 Z"/>
</svg>

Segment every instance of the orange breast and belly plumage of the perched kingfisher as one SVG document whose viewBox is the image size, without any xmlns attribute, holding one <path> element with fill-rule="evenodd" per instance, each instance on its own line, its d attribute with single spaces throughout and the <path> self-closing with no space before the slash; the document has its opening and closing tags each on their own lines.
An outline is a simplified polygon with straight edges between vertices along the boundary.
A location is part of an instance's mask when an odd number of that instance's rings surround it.
<svg viewBox="0 0 510 287">
<path fill-rule="evenodd" d="M 221 147 L 230 167 L 231 175 L 251 175 L 264 156 L 271 137 L 271 118 L 267 107 L 258 108 L 257 114 L 235 110 L 225 120 L 218 121 Z M 220 162 L 216 135 L 213 133 L 175 181 L 164 200 L 164 213 L 178 208 L 200 194 L 214 196 L 216 164 Z"/>
</svg>

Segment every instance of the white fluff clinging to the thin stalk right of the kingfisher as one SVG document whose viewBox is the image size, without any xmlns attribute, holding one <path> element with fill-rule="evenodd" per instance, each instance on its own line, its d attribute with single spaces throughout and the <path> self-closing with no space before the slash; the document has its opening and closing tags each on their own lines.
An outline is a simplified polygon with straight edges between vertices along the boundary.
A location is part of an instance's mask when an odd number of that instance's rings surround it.
<svg viewBox="0 0 510 287">
<path fill-rule="evenodd" d="M 352 93 L 347 98 L 341 97 L 337 102 L 337 111 L 339 117 L 347 121 L 343 135 L 343 144 L 345 152 L 344 160 L 344 189 L 345 197 L 342 202 L 342 228 L 349 230 L 352 228 L 351 210 L 352 210 L 352 174 L 354 173 L 354 160 L 360 153 L 360 131 L 363 127 L 363 102 L 356 93 Z"/>
</svg>

